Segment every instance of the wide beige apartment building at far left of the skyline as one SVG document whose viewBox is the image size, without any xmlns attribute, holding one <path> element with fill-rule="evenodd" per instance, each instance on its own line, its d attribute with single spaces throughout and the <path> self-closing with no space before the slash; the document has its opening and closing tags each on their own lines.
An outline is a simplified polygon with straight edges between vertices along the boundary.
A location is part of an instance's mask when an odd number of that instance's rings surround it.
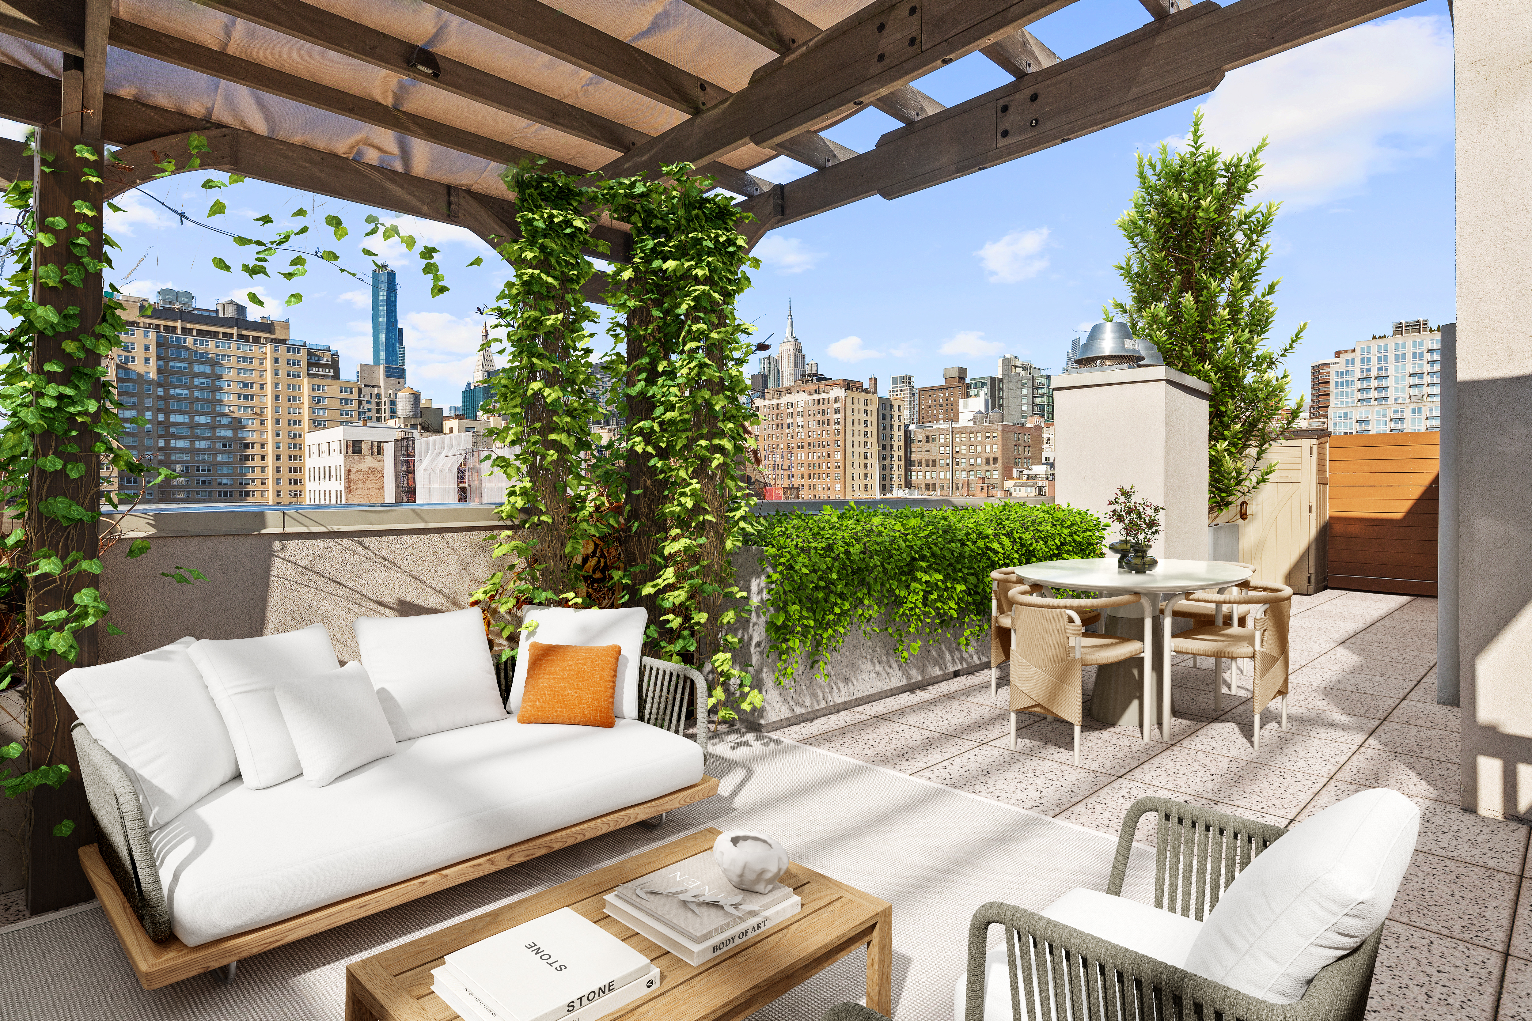
<svg viewBox="0 0 1532 1021">
<path fill-rule="evenodd" d="M 169 294 L 167 289 L 162 294 Z M 248 318 L 237 302 L 196 308 L 116 295 L 124 329 L 107 367 L 126 406 L 146 426 L 126 426 L 123 445 L 175 470 L 161 485 L 118 475 L 121 502 L 299 504 L 311 429 L 357 418 L 357 384 L 340 355 L 294 340 L 288 320 Z"/>
</svg>

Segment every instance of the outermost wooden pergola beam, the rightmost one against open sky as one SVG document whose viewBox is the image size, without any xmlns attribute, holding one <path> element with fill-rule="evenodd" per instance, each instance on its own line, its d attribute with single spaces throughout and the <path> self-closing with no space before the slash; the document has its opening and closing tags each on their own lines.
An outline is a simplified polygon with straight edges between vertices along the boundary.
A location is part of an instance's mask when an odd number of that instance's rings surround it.
<svg viewBox="0 0 1532 1021">
<path fill-rule="evenodd" d="M 1417 0 L 1204 2 L 896 129 L 878 147 L 740 204 L 769 227 L 899 197 L 1210 92 L 1224 73 Z M 769 228 L 768 227 L 768 228 Z"/>
</svg>

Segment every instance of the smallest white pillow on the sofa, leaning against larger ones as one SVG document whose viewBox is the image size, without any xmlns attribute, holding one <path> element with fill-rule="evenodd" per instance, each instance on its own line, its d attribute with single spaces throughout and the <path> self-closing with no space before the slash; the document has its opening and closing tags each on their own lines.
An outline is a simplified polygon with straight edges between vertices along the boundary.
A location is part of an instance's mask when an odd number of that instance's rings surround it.
<svg viewBox="0 0 1532 1021">
<path fill-rule="evenodd" d="M 323 787 L 342 773 L 394 755 L 394 732 L 360 663 L 277 684 L 303 781 Z"/>
</svg>

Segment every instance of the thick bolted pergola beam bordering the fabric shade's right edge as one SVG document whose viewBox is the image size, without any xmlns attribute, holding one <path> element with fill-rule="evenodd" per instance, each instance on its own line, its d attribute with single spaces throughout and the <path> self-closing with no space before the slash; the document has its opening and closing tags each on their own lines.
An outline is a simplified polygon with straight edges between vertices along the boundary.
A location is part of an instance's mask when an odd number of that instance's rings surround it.
<svg viewBox="0 0 1532 1021">
<path fill-rule="evenodd" d="M 780 64 L 737 95 L 617 158 L 608 170 L 622 176 L 676 161 L 720 159 L 751 142 L 775 145 L 1068 3 L 901 0 L 887 8 L 866 8 L 780 58 Z"/>
</svg>

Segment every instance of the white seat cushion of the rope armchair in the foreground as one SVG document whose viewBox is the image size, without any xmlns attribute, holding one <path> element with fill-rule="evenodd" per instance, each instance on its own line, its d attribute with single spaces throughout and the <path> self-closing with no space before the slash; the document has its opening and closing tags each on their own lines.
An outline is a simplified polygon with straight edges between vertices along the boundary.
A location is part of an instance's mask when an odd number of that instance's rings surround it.
<svg viewBox="0 0 1532 1021">
<path fill-rule="evenodd" d="M 1037 914 L 1177 967 L 1186 963 L 1186 955 L 1203 929 L 1196 918 L 1183 918 L 1137 900 L 1085 888 L 1071 889 Z M 1011 967 L 1005 957 L 1005 946 L 997 946 L 984 960 L 984 1016 L 996 1021 L 1011 1021 Z M 1017 964 L 1022 960 L 1017 949 Z M 965 1021 L 967 1003 L 968 980 L 967 975 L 959 975 L 953 990 L 954 1021 Z M 1022 1013 L 1026 1013 L 1025 987 Z"/>
</svg>

